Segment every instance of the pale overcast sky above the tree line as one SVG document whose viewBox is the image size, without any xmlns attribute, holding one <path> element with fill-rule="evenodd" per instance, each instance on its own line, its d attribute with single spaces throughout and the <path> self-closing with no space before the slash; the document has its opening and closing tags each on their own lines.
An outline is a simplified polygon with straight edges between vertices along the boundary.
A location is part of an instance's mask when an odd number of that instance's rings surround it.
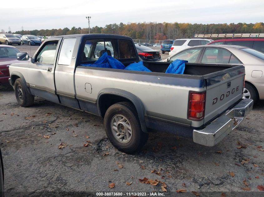
<svg viewBox="0 0 264 197">
<path fill-rule="evenodd" d="M 0 8 L 0 30 L 59 29 L 128 22 L 256 23 L 264 22 L 263 0 L 12 0 Z"/>
</svg>

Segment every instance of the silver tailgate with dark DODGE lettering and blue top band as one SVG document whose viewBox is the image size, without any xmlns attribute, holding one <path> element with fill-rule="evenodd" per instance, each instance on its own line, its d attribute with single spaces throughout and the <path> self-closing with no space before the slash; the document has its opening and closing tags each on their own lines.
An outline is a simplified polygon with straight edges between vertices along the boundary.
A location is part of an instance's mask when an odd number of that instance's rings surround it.
<svg viewBox="0 0 264 197">
<path fill-rule="evenodd" d="M 227 111 L 242 98 L 245 68 L 238 65 L 204 75 L 207 80 L 204 124 Z"/>
</svg>

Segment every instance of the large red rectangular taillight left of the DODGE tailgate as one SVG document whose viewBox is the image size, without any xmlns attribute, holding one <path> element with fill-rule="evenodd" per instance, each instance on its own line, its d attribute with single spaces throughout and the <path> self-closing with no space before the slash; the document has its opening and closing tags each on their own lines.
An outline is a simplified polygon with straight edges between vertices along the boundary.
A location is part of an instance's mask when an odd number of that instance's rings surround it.
<svg viewBox="0 0 264 197">
<path fill-rule="evenodd" d="M 188 119 L 202 120 L 205 111 L 205 92 L 190 92 Z"/>
</svg>

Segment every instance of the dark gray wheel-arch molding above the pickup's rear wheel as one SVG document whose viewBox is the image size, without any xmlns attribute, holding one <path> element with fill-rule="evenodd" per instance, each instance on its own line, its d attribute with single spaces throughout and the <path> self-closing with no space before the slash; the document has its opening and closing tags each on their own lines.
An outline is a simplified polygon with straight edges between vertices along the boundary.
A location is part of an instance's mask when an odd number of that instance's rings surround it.
<svg viewBox="0 0 264 197">
<path fill-rule="evenodd" d="M 99 91 L 98 96 L 97 96 L 97 107 L 98 107 L 100 116 L 102 116 L 102 114 L 100 112 L 100 107 L 99 107 L 100 97 L 102 95 L 105 95 L 105 94 L 112 94 L 112 95 L 116 95 L 116 96 L 121 96 L 121 97 L 124 97 L 124 98 L 128 99 L 129 101 L 131 101 L 134 104 L 134 106 L 136 107 L 142 131 L 145 133 L 148 133 L 146 122 L 144 119 L 144 113 L 145 113 L 144 107 L 142 105 L 142 102 L 140 101 L 140 99 L 136 95 L 132 94 L 131 92 L 128 92 L 125 90 L 120 90 L 117 88 L 104 88 L 104 89 L 102 89 L 101 91 Z"/>
</svg>

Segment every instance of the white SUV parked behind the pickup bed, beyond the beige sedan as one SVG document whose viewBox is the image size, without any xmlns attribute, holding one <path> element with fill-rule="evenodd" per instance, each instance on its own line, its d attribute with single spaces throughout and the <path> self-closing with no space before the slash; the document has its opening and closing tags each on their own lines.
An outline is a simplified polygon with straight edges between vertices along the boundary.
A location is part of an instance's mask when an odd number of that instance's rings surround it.
<svg viewBox="0 0 264 197">
<path fill-rule="evenodd" d="M 169 56 L 177 54 L 179 51 L 186 49 L 190 46 L 206 45 L 213 40 L 199 39 L 199 38 L 183 38 L 174 40 Z"/>
</svg>

